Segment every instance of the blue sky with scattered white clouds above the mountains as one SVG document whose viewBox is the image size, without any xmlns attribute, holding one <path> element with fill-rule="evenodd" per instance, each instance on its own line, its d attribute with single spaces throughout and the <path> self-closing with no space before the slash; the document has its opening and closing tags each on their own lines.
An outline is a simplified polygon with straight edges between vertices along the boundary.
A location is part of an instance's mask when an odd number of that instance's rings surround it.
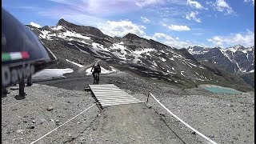
<svg viewBox="0 0 256 144">
<path fill-rule="evenodd" d="M 3 0 L 2 7 L 24 24 L 55 26 L 64 18 L 177 48 L 254 46 L 254 0 Z"/>
</svg>

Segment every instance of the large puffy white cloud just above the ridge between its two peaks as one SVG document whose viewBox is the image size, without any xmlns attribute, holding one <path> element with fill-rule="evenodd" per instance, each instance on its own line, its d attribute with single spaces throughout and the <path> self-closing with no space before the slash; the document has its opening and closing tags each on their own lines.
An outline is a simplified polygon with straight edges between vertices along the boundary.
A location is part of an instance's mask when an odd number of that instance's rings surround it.
<svg viewBox="0 0 256 144">
<path fill-rule="evenodd" d="M 145 26 L 138 26 L 127 20 L 118 22 L 107 21 L 105 24 L 102 24 L 102 26 L 99 26 L 99 29 L 102 30 L 104 34 L 110 35 L 111 37 L 122 37 L 128 33 L 137 34 L 138 36 L 146 35 L 144 32 L 146 29 Z"/>
</svg>

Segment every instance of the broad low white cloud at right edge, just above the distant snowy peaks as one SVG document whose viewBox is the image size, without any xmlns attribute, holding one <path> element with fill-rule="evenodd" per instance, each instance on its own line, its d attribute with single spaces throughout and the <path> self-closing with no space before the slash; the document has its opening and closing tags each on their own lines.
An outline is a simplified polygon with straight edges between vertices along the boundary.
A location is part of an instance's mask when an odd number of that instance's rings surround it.
<svg viewBox="0 0 256 144">
<path fill-rule="evenodd" d="M 207 39 L 209 42 L 213 42 L 215 46 L 254 46 L 254 32 L 247 30 L 246 34 L 230 34 L 230 36 L 214 36 Z"/>
</svg>

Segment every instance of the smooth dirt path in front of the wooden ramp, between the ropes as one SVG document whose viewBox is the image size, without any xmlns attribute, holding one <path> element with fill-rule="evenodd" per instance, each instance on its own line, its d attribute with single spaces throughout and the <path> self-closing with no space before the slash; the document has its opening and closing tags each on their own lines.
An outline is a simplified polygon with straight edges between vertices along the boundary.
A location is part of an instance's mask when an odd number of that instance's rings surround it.
<svg viewBox="0 0 256 144">
<path fill-rule="evenodd" d="M 107 107 L 85 133 L 85 143 L 184 143 L 145 103 Z"/>
</svg>

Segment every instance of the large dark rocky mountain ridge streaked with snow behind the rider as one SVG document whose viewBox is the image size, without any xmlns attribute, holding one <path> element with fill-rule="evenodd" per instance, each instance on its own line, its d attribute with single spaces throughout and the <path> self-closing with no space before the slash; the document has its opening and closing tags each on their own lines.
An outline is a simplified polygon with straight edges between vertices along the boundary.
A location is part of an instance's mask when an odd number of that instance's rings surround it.
<svg viewBox="0 0 256 144">
<path fill-rule="evenodd" d="M 235 74 L 222 70 L 218 73 L 219 70 L 203 66 L 186 49 L 178 50 L 135 34 L 112 38 L 97 28 L 78 26 L 64 19 L 60 19 L 56 26 L 28 27 L 62 62 L 66 57 L 86 65 L 86 62 L 94 62 L 95 58 L 99 58 L 119 69 L 130 70 L 177 86 L 194 87 L 202 83 L 214 83 L 222 86 L 233 84 L 231 87 L 240 85 L 241 90 L 250 89 L 250 86 Z M 70 54 L 67 51 L 73 52 Z M 81 57 L 74 56 L 74 53 Z"/>
</svg>

